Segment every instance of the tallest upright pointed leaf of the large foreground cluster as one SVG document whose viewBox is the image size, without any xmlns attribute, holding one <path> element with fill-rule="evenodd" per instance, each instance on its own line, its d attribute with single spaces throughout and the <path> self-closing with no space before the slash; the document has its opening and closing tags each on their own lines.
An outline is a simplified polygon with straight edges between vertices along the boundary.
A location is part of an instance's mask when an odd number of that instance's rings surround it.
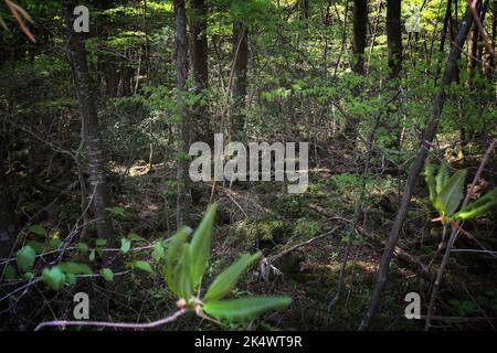
<svg viewBox="0 0 497 353">
<path fill-rule="evenodd" d="M 212 227 L 214 225 L 218 206 L 211 205 L 203 216 L 202 222 L 193 234 L 190 245 L 191 282 L 197 287 L 202 280 L 203 272 L 209 264 L 212 244 Z"/>
</svg>

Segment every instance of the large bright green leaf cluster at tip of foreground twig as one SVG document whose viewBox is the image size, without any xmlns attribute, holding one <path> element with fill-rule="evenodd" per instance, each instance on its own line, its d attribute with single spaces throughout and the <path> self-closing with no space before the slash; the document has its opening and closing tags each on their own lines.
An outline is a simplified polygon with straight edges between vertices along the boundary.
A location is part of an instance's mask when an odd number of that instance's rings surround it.
<svg viewBox="0 0 497 353">
<path fill-rule="evenodd" d="M 254 264 L 261 254 L 244 254 L 212 281 L 202 300 L 200 297 L 201 279 L 207 270 L 216 206 L 211 205 L 193 234 L 189 228 L 180 229 L 171 239 L 166 256 L 165 277 L 169 289 L 179 297 L 178 304 L 205 312 L 218 319 L 239 320 L 254 318 L 265 311 L 289 304 L 289 298 L 242 298 L 220 301 L 236 286 L 242 274 Z M 197 290 L 195 290 L 197 289 Z M 193 296 L 197 292 L 197 297 Z"/>
</svg>

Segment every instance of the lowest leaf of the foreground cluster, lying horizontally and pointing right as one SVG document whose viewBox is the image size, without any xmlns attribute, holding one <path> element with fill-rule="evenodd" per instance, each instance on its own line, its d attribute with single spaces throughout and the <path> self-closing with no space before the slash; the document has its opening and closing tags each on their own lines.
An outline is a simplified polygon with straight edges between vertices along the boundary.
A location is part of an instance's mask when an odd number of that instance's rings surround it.
<svg viewBox="0 0 497 353">
<path fill-rule="evenodd" d="M 209 315 L 218 319 L 247 320 L 266 311 L 287 307 L 290 302 L 292 299 L 288 297 L 248 297 L 207 302 L 202 309 Z"/>
</svg>

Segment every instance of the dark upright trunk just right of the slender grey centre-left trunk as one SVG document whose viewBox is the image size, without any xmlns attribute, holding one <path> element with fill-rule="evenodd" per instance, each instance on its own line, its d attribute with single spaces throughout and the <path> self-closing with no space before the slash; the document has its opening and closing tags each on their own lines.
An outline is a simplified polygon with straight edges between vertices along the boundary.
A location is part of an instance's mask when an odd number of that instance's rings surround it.
<svg viewBox="0 0 497 353">
<path fill-rule="evenodd" d="M 209 86 L 209 56 L 207 38 L 207 6 L 204 0 L 191 0 L 190 49 L 193 84 L 195 92 Z M 209 116 L 200 104 L 193 107 L 193 141 L 213 142 Z"/>
</svg>

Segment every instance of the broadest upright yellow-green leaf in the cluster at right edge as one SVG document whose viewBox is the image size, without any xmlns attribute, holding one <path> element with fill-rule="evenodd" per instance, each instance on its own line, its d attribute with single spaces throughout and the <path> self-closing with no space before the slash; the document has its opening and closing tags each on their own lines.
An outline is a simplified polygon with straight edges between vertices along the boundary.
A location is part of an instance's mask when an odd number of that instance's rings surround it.
<svg viewBox="0 0 497 353">
<path fill-rule="evenodd" d="M 463 199 L 466 173 L 466 170 L 455 172 L 436 196 L 435 207 L 443 216 L 450 217 L 457 210 Z"/>
</svg>

